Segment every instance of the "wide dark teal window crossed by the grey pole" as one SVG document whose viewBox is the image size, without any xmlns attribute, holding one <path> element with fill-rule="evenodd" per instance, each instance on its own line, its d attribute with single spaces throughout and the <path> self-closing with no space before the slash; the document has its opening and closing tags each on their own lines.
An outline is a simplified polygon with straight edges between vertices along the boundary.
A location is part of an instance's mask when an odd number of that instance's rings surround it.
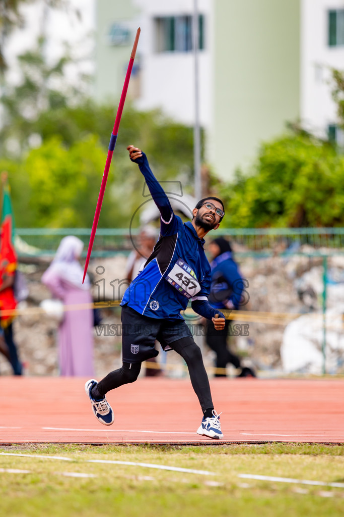
<svg viewBox="0 0 344 517">
<path fill-rule="evenodd" d="M 154 19 L 156 52 L 192 51 L 192 16 Z M 199 49 L 204 49 L 204 16 L 199 15 Z"/>
</svg>

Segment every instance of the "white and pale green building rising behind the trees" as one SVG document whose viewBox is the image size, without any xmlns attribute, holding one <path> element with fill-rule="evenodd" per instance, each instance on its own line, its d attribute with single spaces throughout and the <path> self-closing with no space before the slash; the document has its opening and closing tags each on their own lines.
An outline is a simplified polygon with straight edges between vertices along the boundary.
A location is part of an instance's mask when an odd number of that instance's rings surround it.
<svg viewBox="0 0 344 517">
<path fill-rule="evenodd" d="M 329 67 L 344 68 L 344 0 L 198 0 L 198 9 L 200 119 L 207 160 L 220 176 L 247 166 L 260 142 L 281 134 L 287 121 L 299 118 L 340 140 Z M 192 124 L 193 0 L 96 0 L 96 11 L 95 98 L 118 98 L 140 25 L 130 85 L 136 106 Z"/>
</svg>

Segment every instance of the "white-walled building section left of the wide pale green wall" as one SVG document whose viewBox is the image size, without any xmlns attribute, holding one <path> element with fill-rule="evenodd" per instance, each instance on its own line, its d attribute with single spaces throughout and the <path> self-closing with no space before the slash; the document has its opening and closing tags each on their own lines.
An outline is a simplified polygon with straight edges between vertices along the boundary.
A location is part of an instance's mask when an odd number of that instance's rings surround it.
<svg viewBox="0 0 344 517">
<path fill-rule="evenodd" d="M 200 119 L 210 123 L 211 0 L 199 0 Z M 194 120 L 191 39 L 193 0 L 97 0 L 95 98 L 118 97 L 130 45 L 141 27 L 130 93 L 139 109 L 162 108 L 186 124 Z M 110 65 L 111 64 L 111 65 Z M 136 72 L 136 73 L 135 73 Z"/>
</svg>

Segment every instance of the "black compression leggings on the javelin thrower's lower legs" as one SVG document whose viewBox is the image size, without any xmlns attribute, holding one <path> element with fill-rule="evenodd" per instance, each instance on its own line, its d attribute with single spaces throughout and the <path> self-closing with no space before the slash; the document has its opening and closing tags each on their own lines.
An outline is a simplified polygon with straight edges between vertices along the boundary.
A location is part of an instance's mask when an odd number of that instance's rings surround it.
<svg viewBox="0 0 344 517">
<path fill-rule="evenodd" d="M 200 401 L 202 411 L 214 409 L 212 404 L 209 379 L 205 371 L 201 349 L 191 337 L 178 339 L 170 343 L 171 348 L 181 355 L 185 360 L 191 379 L 191 384 Z M 102 396 L 111 389 L 123 386 L 123 384 L 136 381 L 142 363 L 124 362 L 118 370 L 110 372 L 97 384 L 97 388 Z"/>
</svg>

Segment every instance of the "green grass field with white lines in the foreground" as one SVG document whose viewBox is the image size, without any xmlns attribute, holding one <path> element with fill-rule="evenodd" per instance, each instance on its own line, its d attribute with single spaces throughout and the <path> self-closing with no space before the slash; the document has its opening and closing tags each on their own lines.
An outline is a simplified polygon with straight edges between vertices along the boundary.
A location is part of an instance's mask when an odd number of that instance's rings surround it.
<svg viewBox="0 0 344 517">
<path fill-rule="evenodd" d="M 35 456 L 0 455 L 0 515 L 6 517 L 339 517 L 344 513 L 344 488 L 239 477 L 344 483 L 344 446 L 25 445 L 3 446 L 0 452 Z M 52 455 L 72 461 L 40 457 Z M 88 460 L 150 463 L 214 474 Z M 94 477 L 71 477 L 78 474 Z"/>
</svg>

